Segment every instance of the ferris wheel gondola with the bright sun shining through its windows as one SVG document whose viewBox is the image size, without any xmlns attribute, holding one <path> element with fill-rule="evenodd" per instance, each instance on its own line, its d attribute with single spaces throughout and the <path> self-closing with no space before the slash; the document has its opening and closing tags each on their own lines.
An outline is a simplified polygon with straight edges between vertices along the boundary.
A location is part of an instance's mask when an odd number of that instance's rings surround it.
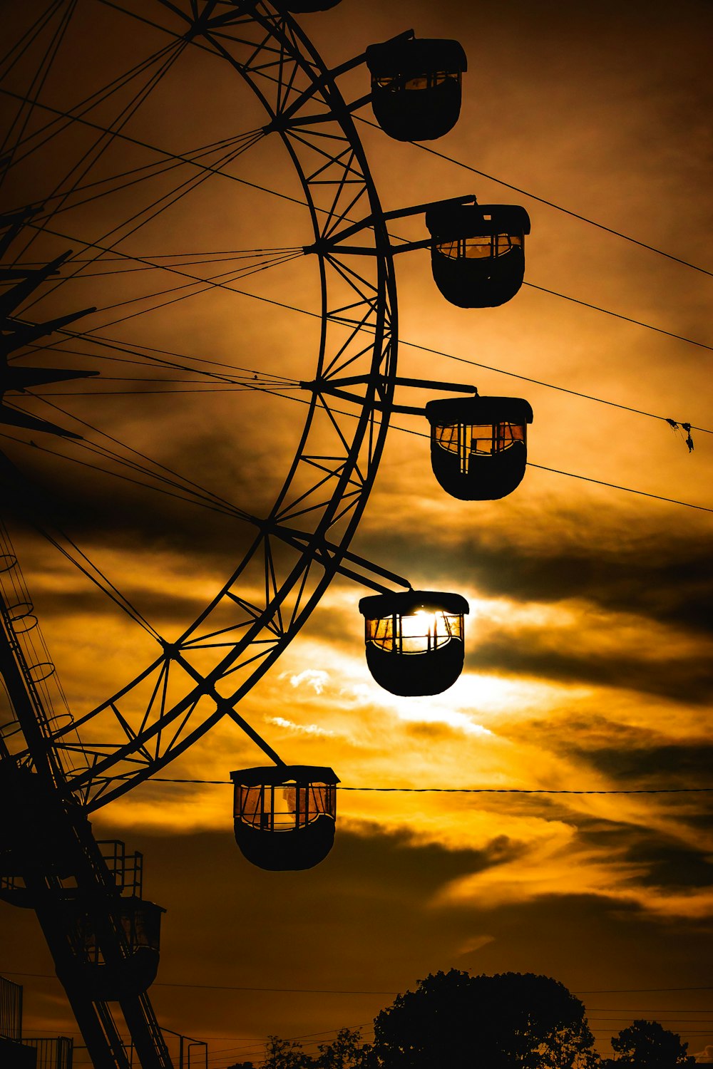
<svg viewBox="0 0 713 1069">
<path fill-rule="evenodd" d="M 463 670 L 468 603 L 438 590 L 362 598 L 367 665 L 379 686 L 405 697 L 440 694 Z"/>
</svg>

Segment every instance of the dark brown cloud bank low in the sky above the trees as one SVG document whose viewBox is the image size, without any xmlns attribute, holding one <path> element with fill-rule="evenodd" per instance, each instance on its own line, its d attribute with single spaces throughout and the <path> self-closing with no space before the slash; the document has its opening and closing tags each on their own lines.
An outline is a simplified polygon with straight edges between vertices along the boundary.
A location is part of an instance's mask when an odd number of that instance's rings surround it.
<svg viewBox="0 0 713 1069">
<path fill-rule="evenodd" d="M 611 1016 L 623 1017 L 634 1005 L 673 1005 L 675 996 L 655 1003 L 655 996 L 637 995 L 634 1003 L 632 994 L 586 992 L 710 980 L 699 954 L 699 924 L 661 925 L 633 903 L 613 908 L 595 896 L 558 895 L 490 909 L 433 907 L 433 893 L 448 880 L 514 857 L 517 848 L 505 841 L 494 840 L 483 852 L 447 851 L 365 825 L 369 834 L 340 831 L 317 869 L 268 873 L 239 856 L 226 823 L 223 833 L 124 833 L 128 847 L 145 854 L 144 893 L 168 910 L 151 995 L 161 1023 L 179 1032 L 246 1037 L 246 1042 L 267 1033 L 304 1035 L 369 1025 L 393 1001 L 390 994 L 230 991 L 216 985 L 396 993 L 413 990 L 438 969 L 511 970 L 554 976 L 583 992 L 588 1007 L 611 1007 Z M 99 838 L 117 836 L 117 828 L 99 819 L 94 826 Z M 22 911 L 17 916 L 4 904 L 0 912 L 17 917 L 7 926 L 3 966 L 51 974 L 34 918 Z M 26 977 L 24 982 L 31 1019 L 48 1008 L 53 1020 L 61 1017 L 61 1005 L 43 994 L 56 991 L 52 981 Z M 187 987 L 164 986 L 176 983 Z M 687 997 L 684 1005 L 697 1005 Z M 598 1032 L 601 1039 L 606 1035 Z M 212 1052 L 227 1045 L 216 1041 Z"/>
</svg>

